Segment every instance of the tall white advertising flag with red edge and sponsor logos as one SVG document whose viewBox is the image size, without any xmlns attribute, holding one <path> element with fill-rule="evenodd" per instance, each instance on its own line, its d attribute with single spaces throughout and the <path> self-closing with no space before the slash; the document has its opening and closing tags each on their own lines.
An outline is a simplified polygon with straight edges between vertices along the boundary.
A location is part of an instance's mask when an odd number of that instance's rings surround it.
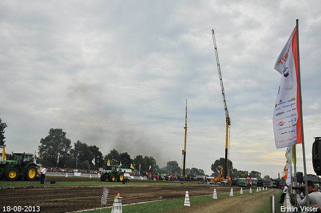
<svg viewBox="0 0 321 213">
<path fill-rule="evenodd" d="M 273 112 L 274 140 L 276 148 L 283 148 L 301 142 L 296 29 L 278 57 L 274 69 L 282 74 Z"/>
</svg>

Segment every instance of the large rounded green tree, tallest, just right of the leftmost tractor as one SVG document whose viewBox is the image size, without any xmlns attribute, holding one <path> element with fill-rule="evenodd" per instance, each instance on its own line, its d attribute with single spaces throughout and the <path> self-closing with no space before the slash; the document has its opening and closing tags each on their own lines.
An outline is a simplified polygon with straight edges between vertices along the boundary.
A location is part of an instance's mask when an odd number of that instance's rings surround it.
<svg viewBox="0 0 321 213">
<path fill-rule="evenodd" d="M 42 163 L 46 166 L 56 166 L 59 153 L 59 164 L 66 164 L 66 158 L 69 156 L 71 149 L 71 140 L 66 137 L 66 132 L 62 129 L 49 130 L 49 135 L 40 139 L 41 145 L 38 146 L 39 156 L 43 156 Z"/>
</svg>

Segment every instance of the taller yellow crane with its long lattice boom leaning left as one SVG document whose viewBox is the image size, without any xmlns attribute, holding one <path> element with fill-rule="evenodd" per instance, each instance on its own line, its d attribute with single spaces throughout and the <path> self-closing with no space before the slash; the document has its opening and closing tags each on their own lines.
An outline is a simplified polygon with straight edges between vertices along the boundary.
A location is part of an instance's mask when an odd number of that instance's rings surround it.
<svg viewBox="0 0 321 213">
<path fill-rule="evenodd" d="M 215 39 L 215 33 L 212 29 L 212 37 L 213 37 L 213 44 L 214 44 L 214 51 L 216 56 L 216 64 L 217 64 L 217 70 L 219 72 L 219 78 L 220 78 L 220 84 L 221 84 L 221 91 L 222 91 L 222 97 L 223 97 L 223 104 L 224 104 L 224 110 L 225 110 L 225 119 L 226 119 L 226 131 L 225 131 L 225 169 L 224 169 L 224 177 L 227 179 L 227 182 L 231 182 L 230 177 L 230 163 L 229 163 L 229 153 L 228 150 L 230 149 L 230 126 L 231 126 L 231 118 L 229 116 L 229 110 L 227 109 L 226 104 L 226 98 L 225 98 L 225 91 L 222 81 L 222 75 L 221 75 L 221 67 L 220 67 L 220 61 L 219 61 L 219 54 L 217 52 L 217 46 L 216 46 L 216 39 Z"/>
</svg>

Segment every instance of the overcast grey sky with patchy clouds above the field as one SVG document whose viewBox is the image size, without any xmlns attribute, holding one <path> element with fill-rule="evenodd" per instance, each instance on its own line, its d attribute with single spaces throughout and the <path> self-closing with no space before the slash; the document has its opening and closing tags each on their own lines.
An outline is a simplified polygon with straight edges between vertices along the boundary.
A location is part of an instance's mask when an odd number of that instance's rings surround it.
<svg viewBox="0 0 321 213">
<path fill-rule="evenodd" d="M 106 155 L 153 156 L 211 174 L 225 155 L 238 170 L 277 177 L 272 115 L 281 75 L 275 61 L 299 20 L 307 173 L 321 136 L 320 1 L 1 1 L 0 118 L 7 152 L 38 151 L 62 128 Z M 297 145 L 297 170 L 303 171 Z"/>
</svg>

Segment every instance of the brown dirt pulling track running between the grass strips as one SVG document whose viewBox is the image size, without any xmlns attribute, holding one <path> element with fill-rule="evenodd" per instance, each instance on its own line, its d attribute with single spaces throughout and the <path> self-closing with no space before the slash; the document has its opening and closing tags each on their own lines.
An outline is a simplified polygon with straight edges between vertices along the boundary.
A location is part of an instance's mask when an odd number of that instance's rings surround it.
<svg viewBox="0 0 321 213">
<path fill-rule="evenodd" d="M 109 189 L 107 205 L 112 206 L 113 197 L 120 193 L 122 204 L 144 202 L 151 200 L 173 199 L 185 197 L 188 191 L 190 196 L 213 194 L 214 187 L 218 194 L 228 193 L 231 186 L 213 186 L 207 184 L 146 184 L 146 185 L 93 185 L 93 186 L 57 186 L 50 181 L 100 181 L 98 178 L 82 177 L 48 177 L 44 186 L 14 186 L 0 187 L 0 207 L 3 206 L 40 206 L 40 212 L 70 212 L 84 209 L 100 208 L 103 188 Z M 134 180 L 136 182 L 157 182 L 152 180 Z M 133 182 L 133 181 L 131 181 Z M 180 181 L 164 181 L 181 183 Z M 243 190 L 246 188 L 243 188 Z M 233 191 L 239 191 L 238 186 Z"/>
</svg>

